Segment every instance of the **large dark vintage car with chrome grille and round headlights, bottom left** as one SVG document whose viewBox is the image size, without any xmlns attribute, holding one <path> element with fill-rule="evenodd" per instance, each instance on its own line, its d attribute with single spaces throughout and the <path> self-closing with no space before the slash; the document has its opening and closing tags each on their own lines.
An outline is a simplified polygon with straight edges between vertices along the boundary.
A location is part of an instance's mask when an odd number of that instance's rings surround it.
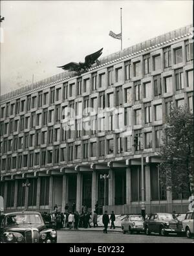
<svg viewBox="0 0 194 256">
<path fill-rule="evenodd" d="M 22 211 L 0 216 L 1 243 L 56 243 L 57 232 L 49 229 L 40 213 Z"/>
</svg>

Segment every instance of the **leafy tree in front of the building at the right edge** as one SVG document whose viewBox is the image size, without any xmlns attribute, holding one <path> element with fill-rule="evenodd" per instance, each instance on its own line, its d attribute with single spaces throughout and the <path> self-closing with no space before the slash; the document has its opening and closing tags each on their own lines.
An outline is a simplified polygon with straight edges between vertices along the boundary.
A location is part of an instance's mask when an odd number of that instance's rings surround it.
<svg viewBox="0 0 194 256">
<path fill-rule="evenodd" d="M 175 108 L 167 117 L 160 156 L 160 182 L 168 190 L 191 196 L 193 191 L 193 113 Z"/>
</svg>

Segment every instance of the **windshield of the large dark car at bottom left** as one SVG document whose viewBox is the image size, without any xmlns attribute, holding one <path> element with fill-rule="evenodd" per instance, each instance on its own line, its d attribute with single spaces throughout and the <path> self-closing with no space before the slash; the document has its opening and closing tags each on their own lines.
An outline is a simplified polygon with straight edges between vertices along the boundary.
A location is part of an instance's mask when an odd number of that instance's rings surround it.
<svg viewBox="0 0 194 256">
<path fill-rule="evenodd" d="M 42 222 L 39 215 L 10 215 L 6 218 L 6 225 L 19 224 L 40 224 Z"/>
</svg>

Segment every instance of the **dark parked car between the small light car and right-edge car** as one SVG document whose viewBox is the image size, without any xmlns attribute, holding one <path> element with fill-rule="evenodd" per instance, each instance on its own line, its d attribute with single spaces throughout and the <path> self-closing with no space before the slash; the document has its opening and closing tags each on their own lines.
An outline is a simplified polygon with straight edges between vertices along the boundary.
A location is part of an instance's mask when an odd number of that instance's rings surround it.
<svg viewBox="0 0 194 256">
<path fill-rule="evenodd" d="M 182 222 L 171 213 L 153 213 L 145 222 L 145 232 L 149 235 L 151 232 L 160 235 L 168 235 L 169 233 L 184 233 Z"/>
</svg>

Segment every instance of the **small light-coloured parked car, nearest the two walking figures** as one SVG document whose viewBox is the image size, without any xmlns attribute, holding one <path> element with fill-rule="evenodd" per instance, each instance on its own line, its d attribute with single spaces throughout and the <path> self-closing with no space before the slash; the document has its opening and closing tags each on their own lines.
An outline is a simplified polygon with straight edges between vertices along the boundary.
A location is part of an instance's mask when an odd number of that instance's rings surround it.
<svg viewBox="0 0 194 256">
<path fill-rule="evenodd" d="M 127 215 L 122 221 L 121 228 L 123 233 L 144 231 L 144 219 L 141 215 Z"/>
</svg>

